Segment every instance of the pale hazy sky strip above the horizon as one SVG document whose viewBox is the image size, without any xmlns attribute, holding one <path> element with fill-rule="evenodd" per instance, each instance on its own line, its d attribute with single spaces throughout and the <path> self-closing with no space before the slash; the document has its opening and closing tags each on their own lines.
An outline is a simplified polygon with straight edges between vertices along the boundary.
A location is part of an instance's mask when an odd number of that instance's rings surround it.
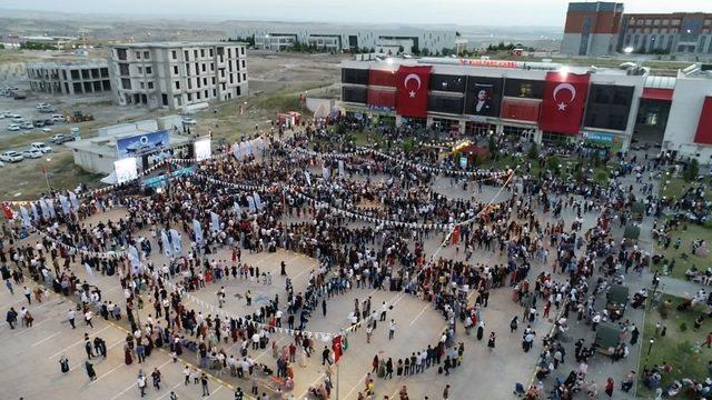
<svg viewBox="0 0 712 400">
<path fill-rule="evenodd" d="M 23 10 L 246 20 L 563 26 L 566 0 L 22 0 Z M 712 0 L 627 0 L 626 12 L 712 12 Z"/>
</svg>

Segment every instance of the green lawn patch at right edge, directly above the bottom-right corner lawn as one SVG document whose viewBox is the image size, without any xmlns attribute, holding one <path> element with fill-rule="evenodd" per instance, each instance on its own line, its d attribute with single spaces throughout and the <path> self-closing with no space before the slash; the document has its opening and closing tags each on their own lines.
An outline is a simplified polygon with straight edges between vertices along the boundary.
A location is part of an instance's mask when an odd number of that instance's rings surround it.
<svg viewBox="0 0 712 400">
<path fill-rule="evenodd" d="M 692 253 L 692 242 L 696 239 L 704 239 L 708 243 L 711 242 L 712 229 L 705 226 L 700 226 L 696 223 L 690 222 L 681 222 L 681 226 L 678 230 L 671 231 L 671 243 L 668 249 L 660 248 L 659 253 L 662 253 L 664 260 L 670 263 L 672 260 L 675 260 L 675 266 L 672 271 L 669 271 L 669 274 L 672 278 L 685 279 L 685 271 L 695 266 L 698 270 L 704 270 L 709 267 L 710 261 L 712 261 L 712 256 L 708 253 L 704 257 L 693 254 Z M 675 242 L 680 238 L 680 248 L 675 249 Z M 688 254 L 688 259 L 683 259 L 682 254 Z M 661 273 L 664 270 L 664 263 L 660 262 L 657 266 L 653 266 L 654 269 L 660 271 Z"/>
</svg>

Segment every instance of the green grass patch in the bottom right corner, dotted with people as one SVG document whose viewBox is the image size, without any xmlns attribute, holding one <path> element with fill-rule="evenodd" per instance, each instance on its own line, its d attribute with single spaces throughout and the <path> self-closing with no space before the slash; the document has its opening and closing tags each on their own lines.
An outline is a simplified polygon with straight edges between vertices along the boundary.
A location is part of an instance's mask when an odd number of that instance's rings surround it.
<svg viewBox="0 0 712 400">
<path fill-rule="evenodd" d="M 710 350 L 706 348 L 700 352 L 693 350 L 695 343 L 704 342 L 706 333 L 712 329 L 712 323 L 708 319 L 703 321 L 700 330 L 693 330 L 694 319 L 704 311 L 704 307 L 698 306 L 695 310 L 678 311 L 678 306 L 682 303 L 684 299 L 664 294 L 661 299 L 661 304 L 664 300 L 669 300 L 671 302 L 668 311 L 668 318 L 663 319 L 659 309 L 653 308 L 649 311 L 645 319 L 645 327 L 643 329 L 643 338 L 641 342 L 641 363 L 639 366 L 639 398 L 652 399 L 654 397 L 654 390 L 652 391 L 647 389 L 642 382 L 644 366 L 647 366 L 649 369 L 655 364 L 662 366 L 663 362 L 668 362 L 673 366 L 672 372 L 663 374 L 661 381 L 661 388 L 663 388 L 663 390 L 675 380 L 680 380 L 682 378 L 704 380 L 708 376 L 706 364 L 710 359 Z M 659 321 L 668 327 L 665 337 L 655 334 L 655 323 Z M 683 323 L 686 327 L 684 331 L 681 329 Z M 651 339 L 655 342 L 652 346 L 650 357 L 647 357 Z M 645 363 L 646 359 L 647 364 Z"/>
</svg>

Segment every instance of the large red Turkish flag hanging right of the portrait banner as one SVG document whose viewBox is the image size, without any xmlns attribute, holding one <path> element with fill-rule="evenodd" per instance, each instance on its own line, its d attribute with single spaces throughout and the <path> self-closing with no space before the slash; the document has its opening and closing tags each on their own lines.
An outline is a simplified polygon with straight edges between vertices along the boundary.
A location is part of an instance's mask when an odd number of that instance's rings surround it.
<svg viewBox="0 0 712 400">
<path fill-rule="evenodd" d="M 546 72 L 538 127 L 543 131 L 576 134 L 581 128 L 591 76 Z"/>
</svg>

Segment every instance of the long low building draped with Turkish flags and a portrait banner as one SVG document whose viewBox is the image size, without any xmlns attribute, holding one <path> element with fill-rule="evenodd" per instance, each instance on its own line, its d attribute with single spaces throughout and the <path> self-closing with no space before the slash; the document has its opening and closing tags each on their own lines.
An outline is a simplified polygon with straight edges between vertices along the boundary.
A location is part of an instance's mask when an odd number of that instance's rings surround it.
<svg viewBox="0 0 712 400">
<path fill-rule="evenodd" d="M 453 58 L 342 62 L 354 118 L 452 134 L 583 141 L 625 151 L 647 142 L 712 161 L 712 66 L 647 70 Z"/>
</svg>

